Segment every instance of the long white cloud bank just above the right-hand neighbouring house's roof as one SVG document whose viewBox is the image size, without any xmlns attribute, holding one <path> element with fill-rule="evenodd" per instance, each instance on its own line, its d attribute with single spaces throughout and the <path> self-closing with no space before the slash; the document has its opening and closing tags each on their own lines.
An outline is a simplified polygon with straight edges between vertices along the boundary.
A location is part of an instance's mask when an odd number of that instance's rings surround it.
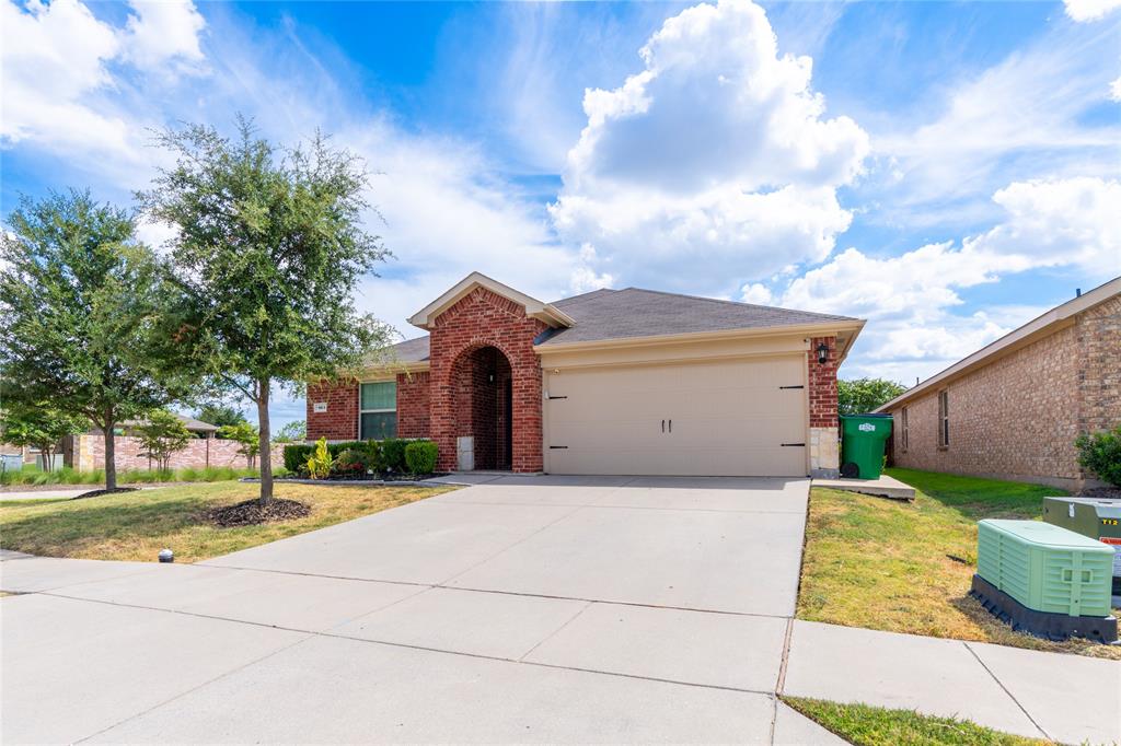
<svg viewBox="0 0 1121 746">
<path fill-rule="evenodd" d="M 1103 280 L 1121 274 L 1121 183 L 1022 181 L 993 201 L 1004 218 L 960 245 L 935 243 L 882 258 L 847 249 L 790 281 L 780 305 L 870 319 L 859 342 L 862 360 L 873 367 L 895 361 L 893 370 L 907 361 L 910 370 L 930 373 L 1045 310 L 962 316 L 954 314 L 964 304 L 961 290 L 1041 268 L 1077 268 Z"/>
</svg>

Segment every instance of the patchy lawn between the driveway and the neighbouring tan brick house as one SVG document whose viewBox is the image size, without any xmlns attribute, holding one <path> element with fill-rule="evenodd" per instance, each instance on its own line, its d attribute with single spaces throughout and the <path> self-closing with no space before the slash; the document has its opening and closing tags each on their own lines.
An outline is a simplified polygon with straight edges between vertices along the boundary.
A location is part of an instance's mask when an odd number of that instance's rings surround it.
<svg viewBox="0 0 1121 746">
<path fill-rule="evenodd" d="M 915 502 L 810 492 L 798 618 L 1121 660 L 1117 646 L 1013 633 L 967 595 L 978 520 L 1038 519 L 1043 497 L 1060 489 L 909 469 L 888 473 L 916 488 Z"/>
</svg>

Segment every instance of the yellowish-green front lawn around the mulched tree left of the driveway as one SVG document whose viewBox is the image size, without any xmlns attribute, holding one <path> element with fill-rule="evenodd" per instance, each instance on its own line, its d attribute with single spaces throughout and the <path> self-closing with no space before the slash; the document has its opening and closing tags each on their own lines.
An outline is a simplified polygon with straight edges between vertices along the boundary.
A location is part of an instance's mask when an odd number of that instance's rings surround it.
<svg viewBox="0 0 1121 746">
<path fill-rule="evenodd" d="M 447 492 L 447 487 L 339 487 L 278 484 L 276 496 L 311 506 L 280 523 L 222 529 L 210 509 L 258 494 L 240 482 L 192 484 L 84 500 L 2 501 L 0 547 L 44 557 L 156 561 L 169 547 L 178 562 L 256 547 Z"/>
</svg>

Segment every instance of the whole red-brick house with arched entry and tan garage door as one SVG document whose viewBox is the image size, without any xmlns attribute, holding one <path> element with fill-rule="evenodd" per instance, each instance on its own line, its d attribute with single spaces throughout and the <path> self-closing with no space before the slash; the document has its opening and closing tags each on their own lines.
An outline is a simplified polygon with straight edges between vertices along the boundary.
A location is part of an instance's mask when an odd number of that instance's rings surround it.
<svg viewBox="0 0 1121 746">
<path fill-rule="evenodd" d="M 308 386 L 309 439 L 427 437 L 442 469 L 835 474 L 864 324 L 636 288 L 544 304 L 478 272 L 409 321 L 428 336 Z"/>
</svg>

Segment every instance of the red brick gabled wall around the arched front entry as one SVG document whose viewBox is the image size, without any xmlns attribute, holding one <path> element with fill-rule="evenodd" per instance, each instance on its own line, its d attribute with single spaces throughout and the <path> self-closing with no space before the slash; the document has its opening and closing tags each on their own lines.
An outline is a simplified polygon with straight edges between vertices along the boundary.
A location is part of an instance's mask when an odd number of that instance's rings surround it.
<svg viewBox="0 0 1121 746">
<path fill-rule="evenodd" d="M 473 416 L 456 405 L 456 362 L 482 347 L 495 347 L 510 364 L 515 472 L 540 472 L 541 369 L 534 338 L 545 324 L 485 288 L 475 288 L 441 314 L 430 329 L 430 428 L 439 447 L 439 468 L 455 467 L 455 439 L 473 435 Z M 478 447 L 478 446 L 476 446 Z"/>
</svg>

